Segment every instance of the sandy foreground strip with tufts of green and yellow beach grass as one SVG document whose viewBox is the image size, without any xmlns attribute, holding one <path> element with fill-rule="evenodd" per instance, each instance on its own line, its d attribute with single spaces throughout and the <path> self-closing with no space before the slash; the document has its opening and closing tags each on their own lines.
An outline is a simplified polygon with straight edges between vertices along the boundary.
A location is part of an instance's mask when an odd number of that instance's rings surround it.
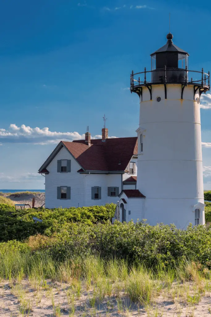
<svg viewBox="0 0 211 317">
<path fill-rule="evenodd" d="M 21 316 L 45 309 L 49 316 L 158 317 L 171 316 L 170 307 L 172 316 L 197 316 L 192 313 L 202 301 L 209 314 L 210 276 L 208 268 L 193 261 L 152 270 L 94 255 L 73 254 L 58 262 L 28 246 L 0 245 L 0 293 L 4 299 L 16 298 L 14 310 Z"/>
</svg>

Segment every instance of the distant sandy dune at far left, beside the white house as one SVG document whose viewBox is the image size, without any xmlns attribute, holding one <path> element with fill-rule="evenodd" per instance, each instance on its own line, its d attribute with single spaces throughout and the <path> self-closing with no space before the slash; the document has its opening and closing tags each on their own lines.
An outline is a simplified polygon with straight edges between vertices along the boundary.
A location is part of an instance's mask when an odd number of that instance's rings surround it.
<svg viewBox="0 0 211 317">
<path fill-rule="evenodd" d="M 45 193 L 5 193 L 3 196 L 11 199 L 15 204 L 29 204 L 32 207 L 33 197 L 35 199 L 34 207 L 41 207 L 45 204 Z M 45 207 L 45 205 L 43 207 Z"/>
</svg>

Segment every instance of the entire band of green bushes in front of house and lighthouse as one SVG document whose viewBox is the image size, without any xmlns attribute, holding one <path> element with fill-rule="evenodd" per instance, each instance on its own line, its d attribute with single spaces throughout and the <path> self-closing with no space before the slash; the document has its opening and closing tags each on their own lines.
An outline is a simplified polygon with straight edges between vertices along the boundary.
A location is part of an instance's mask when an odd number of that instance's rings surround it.
<svg viewBox="0 0 211 317">
<path fill-rule="evenodd" d="M 94 254 L 120 258 L 148 267 L 175 266 L 189 259 L 211 267 L 211 227 L 199 225 L 179 230 L 174 225 L 150 226 L 145 222 L 111 224 L 115 205 L 16 212 L 0 205 L 0 249 L 65 261 L 73 255 Z M 206 203 L 206 219 L 211 203 Z M 32 217 L 43 220 L 34 223 Z M 26 239 L 27 238 L 27 239 Z M 26 239 L 25 241 L 23 241 Z M 1 255 L 0 255 L 1 262 Z"/>
</svg>

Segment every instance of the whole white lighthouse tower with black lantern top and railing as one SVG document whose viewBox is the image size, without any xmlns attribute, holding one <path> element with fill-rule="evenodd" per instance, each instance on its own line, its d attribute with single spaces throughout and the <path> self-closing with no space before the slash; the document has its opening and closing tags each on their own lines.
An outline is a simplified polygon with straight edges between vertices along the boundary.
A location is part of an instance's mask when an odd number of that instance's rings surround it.
<svg viewBox="0 0 211 317">
<path fill-rule="evenodd" d="M 203 68 L 189 70 L 189 54 L 166 37 L 151 71 L 131 74 L 131 93 L 140 97 L 136 189 L 146 197 L 141 218 L 183 229 L 205 223 L 200 96 L 210 81 Z"/>
</svg>

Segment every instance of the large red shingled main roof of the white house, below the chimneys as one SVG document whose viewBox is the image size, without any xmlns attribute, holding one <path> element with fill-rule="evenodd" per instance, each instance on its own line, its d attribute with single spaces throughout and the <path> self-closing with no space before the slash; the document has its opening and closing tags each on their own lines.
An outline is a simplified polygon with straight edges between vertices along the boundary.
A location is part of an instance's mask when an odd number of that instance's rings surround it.
<svg viewBox="0 0 211 317">
<path fill-rule="evenodd" d="M 137 137 L 63 142 L 84 170 L 88 171 L 125 171 L 133 155 L 137 155 Z M 120 163 L 120 164 L 119 164 Z"/>
</svg>

